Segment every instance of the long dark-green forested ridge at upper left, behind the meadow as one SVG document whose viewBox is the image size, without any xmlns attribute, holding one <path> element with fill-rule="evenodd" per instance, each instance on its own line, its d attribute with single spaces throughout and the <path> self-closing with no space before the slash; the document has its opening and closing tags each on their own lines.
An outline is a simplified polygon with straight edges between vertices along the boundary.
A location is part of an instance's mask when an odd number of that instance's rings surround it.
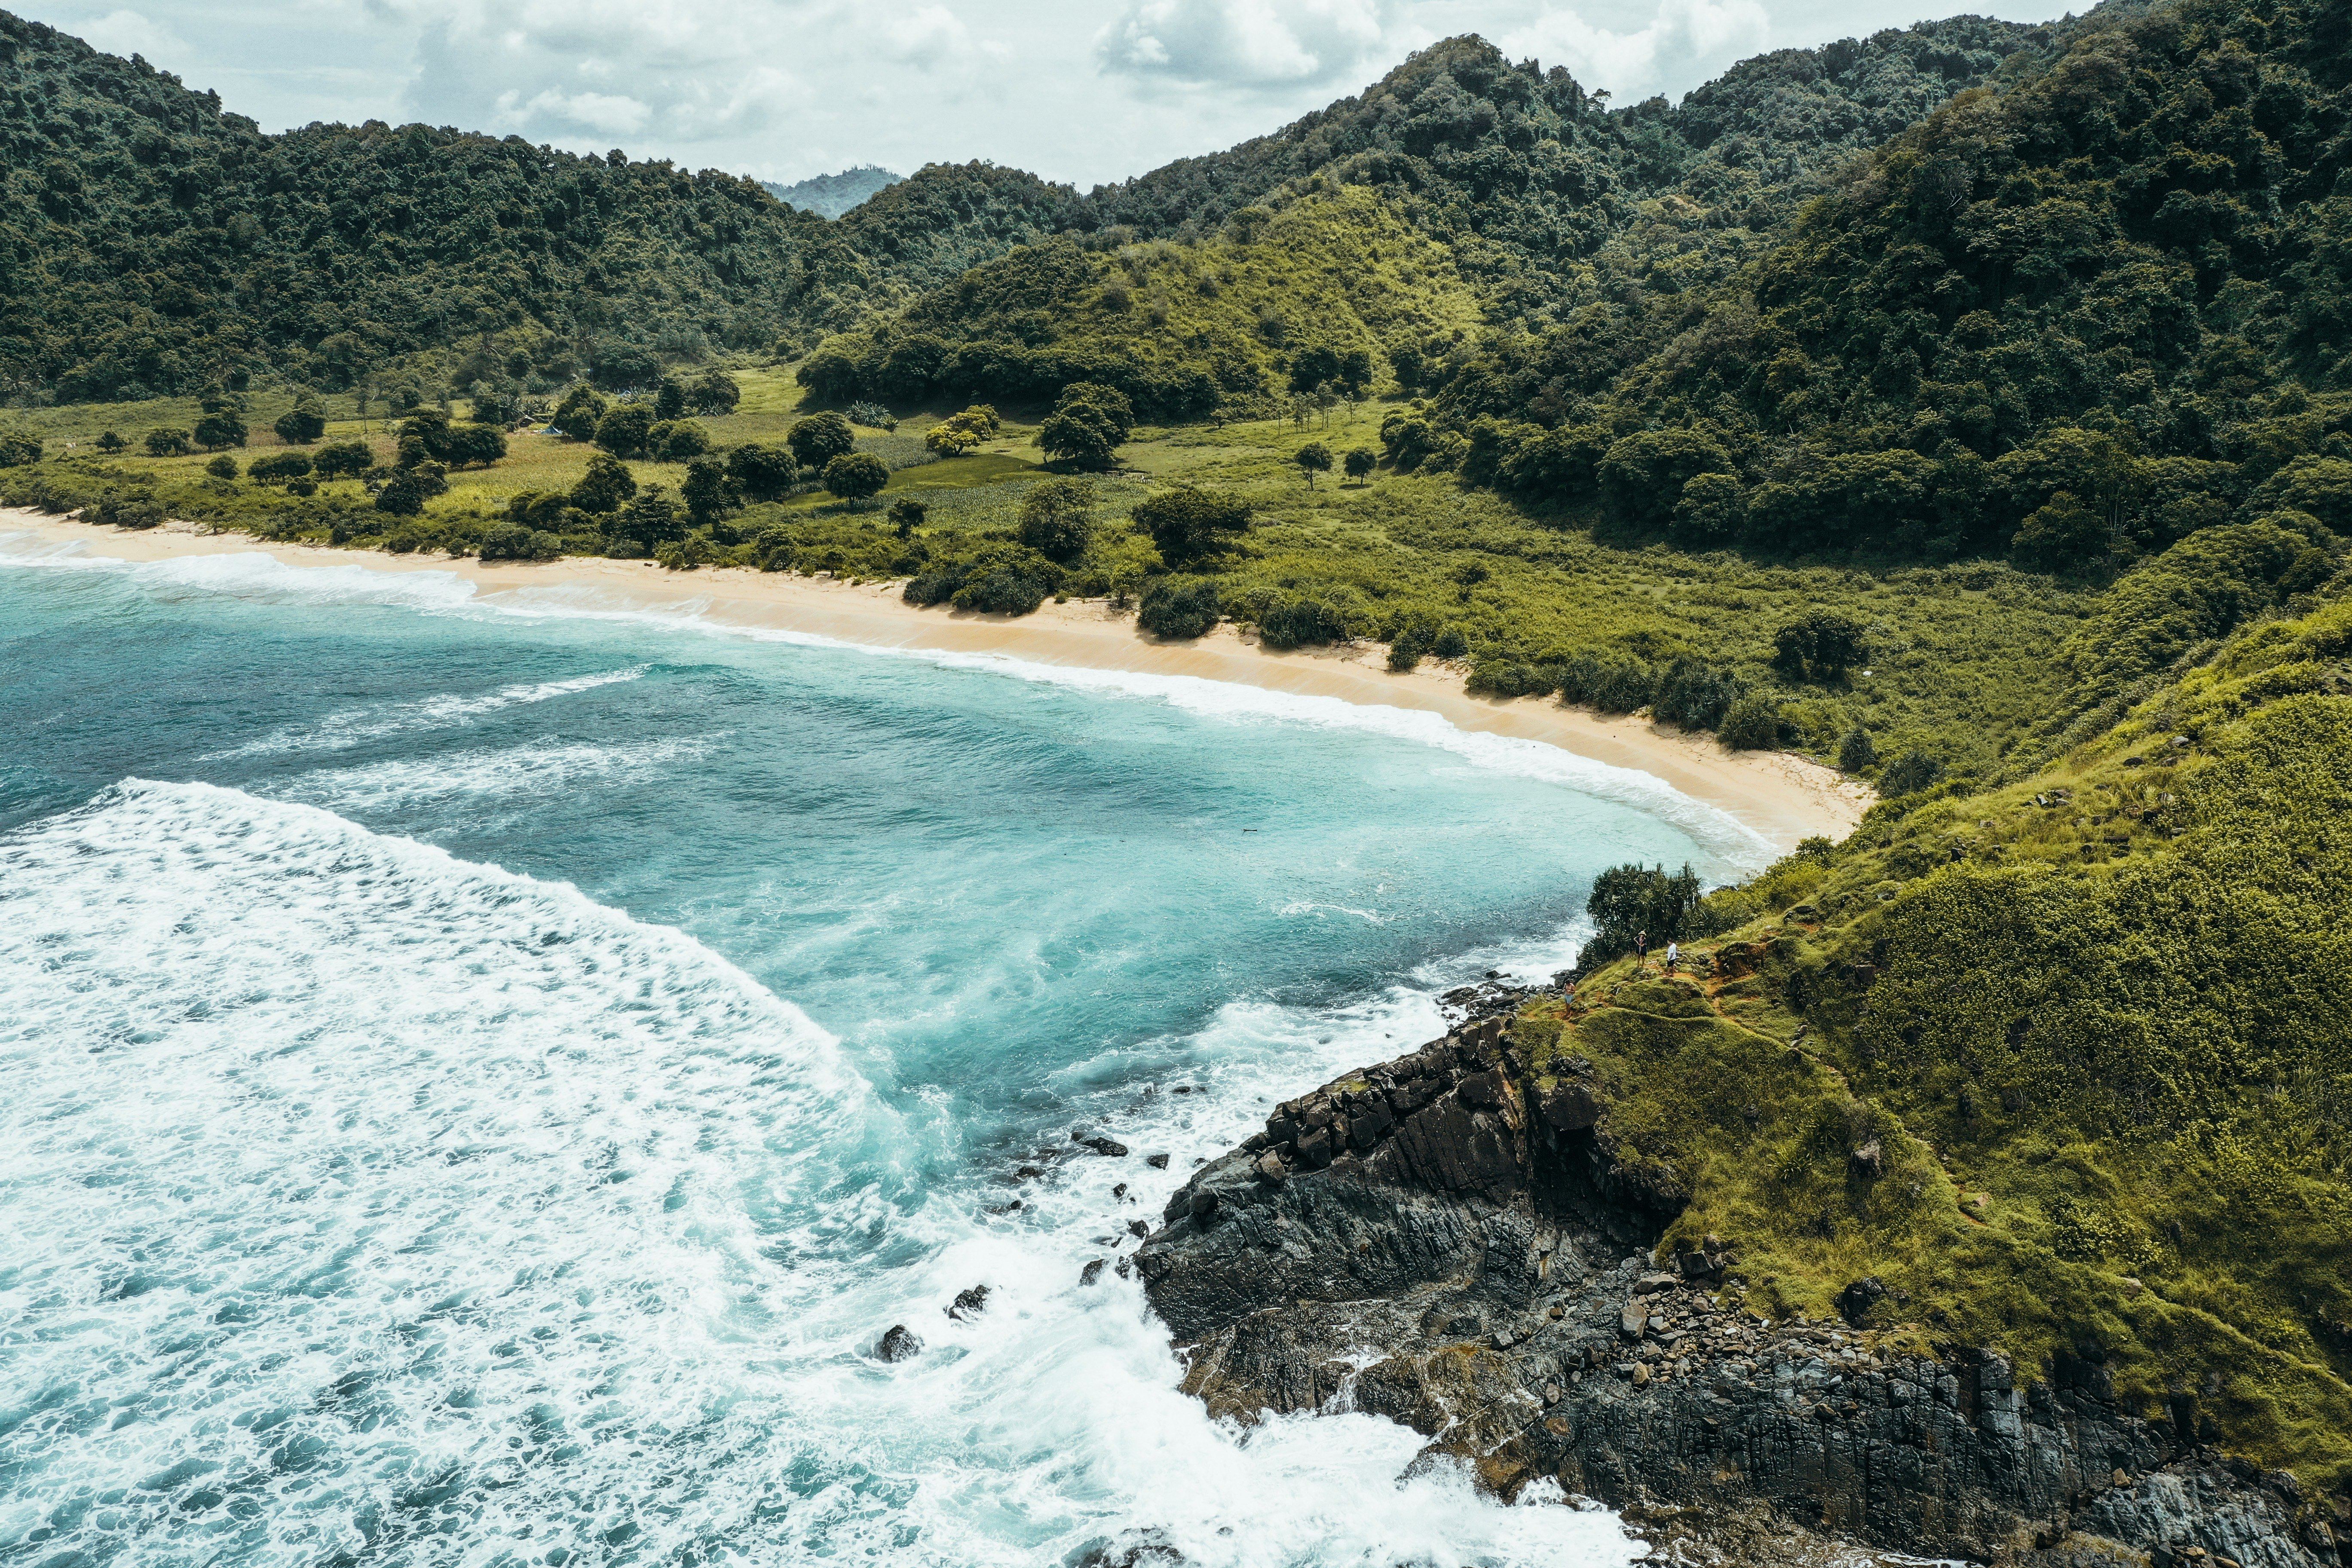
<svg viewBox="0 0 2352 1568">
<path fill-rule="evenodd" d="M 339 390 L 485 334 L 501 371 L 520 350 L 515 381 L 626 386 L 659 357 L 851 327 L 1075 202 L 936 165 L 828 223 L 715 169 L 517 136 L 263 136 L 216 94 L 7 12 L 0 169 L 0 381 L 61 402 L 240 374 Z"/>
</svg>

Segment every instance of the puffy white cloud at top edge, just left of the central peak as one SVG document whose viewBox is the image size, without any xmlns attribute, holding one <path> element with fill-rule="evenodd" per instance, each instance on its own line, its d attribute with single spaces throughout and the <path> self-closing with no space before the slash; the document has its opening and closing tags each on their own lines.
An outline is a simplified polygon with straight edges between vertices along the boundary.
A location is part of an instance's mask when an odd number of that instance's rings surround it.
<svg viewBox="0 0 2352 1568">
<path fill-rule="evenodd" d="M 1392 0 L 1129 0 L 1094 52 L 1108 71 L 1176 82 L 1331 82 L 1381 54 L 1392 12 Z"/>
</svg>

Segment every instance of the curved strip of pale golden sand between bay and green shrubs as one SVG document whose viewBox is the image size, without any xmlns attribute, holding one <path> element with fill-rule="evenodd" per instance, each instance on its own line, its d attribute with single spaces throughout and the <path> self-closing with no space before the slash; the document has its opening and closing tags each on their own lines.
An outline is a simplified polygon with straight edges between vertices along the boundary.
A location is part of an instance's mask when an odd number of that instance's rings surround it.
<svg viewBox="0 0 2352 1568">
<path fill-rule="evenodd" d="M 369 571 L 442 571 L 473 583 L 485 599 L 527 590 L 590 590 L 616 611 L 684 611 L 708 623 L 800 632 L 835 642 L 938 654 L 983 654 L 1037 665 L 1181 675 L 1294 696 L 1319 696 L 1357 708 L 1435 712 L 1461 731 L 1538 741 L 1562 752 L 1646 773 L 1658 783 L 1724 811 L 1743 827 L 1790 851 L 1804 837 L 1842 839 L 1872 804 L 1867 785 L 1790 752 L 1726 752 L 1705 731 L 1684 733 L 1635 717 L 1602 717 L 1550 698 L 1479 698 L 1463 689 L 1463 670 L 1423 663 L 1395 675 L 1378 644 L 1296 649 L 1272 654 L 1218 625 L 1197 642 L 1141 637 L 1134 614 L 1103 602 L 1042 604 L 1033 616 L 981 616 L 948 607 L 915 609 L 898 599 L 901 583 L 835 583 L 741 567 L 663 571 L 647 562 L 562 557 L 555 562 L 480 562 L 445 555 L 383 555 L 332 545 L 289 545 L 249 534 L 198 534 L 195 524 L 125 531 L 45 512 L 0 508 L 0 534 L 33 534 L 59 545 L 120 562 L 162 562 L 198 555 L 268 555 L 287 567 L 362 567 Z"/>
</svg>

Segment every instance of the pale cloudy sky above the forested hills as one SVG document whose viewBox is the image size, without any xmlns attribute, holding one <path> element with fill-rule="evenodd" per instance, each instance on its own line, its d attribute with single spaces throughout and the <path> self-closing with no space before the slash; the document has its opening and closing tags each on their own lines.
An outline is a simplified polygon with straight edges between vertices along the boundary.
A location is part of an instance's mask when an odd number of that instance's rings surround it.
<svg viewBox="0 0 2352 1568">
<path fill-rule="evenodd" d="M 278 132 L 426 120 L 797 181 L 985 158 L 1089 188 L 1484 33 L 1616 103 L 1764 49 L 2046 0 L 0 0 Z"/>
</svg>

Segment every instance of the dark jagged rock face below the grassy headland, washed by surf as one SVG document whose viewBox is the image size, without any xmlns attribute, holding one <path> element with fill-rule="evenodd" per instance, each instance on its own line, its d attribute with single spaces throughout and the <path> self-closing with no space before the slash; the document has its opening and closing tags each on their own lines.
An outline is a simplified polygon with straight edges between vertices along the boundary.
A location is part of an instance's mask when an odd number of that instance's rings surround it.
<svg viewBox="0 0 2352 1568">
<path fill-rule="evenodd" d="M 2216 1450 L 2194 1396 L 2126 1408 L 2096 1352 L 2013 1368 L 1764 1321 L 1722 1295 L 1736 1239 L 1656 1267 L 1672 1208 L 1611 1171 L 1597 1117 L 1576 1079 L 1531 1079 L 1498 1016 L 1284 1103 L 1134 1255 L 1185 1389 L 1240 1420 L 1388 1415 L 1496 1495 L 1555 1479 L 1686 1542 L 1677 1561 L 1832 1561 L 1830 1542 L 2039 1568 L 2340 1561 L 2352 1505 Z"/>
</svg>

